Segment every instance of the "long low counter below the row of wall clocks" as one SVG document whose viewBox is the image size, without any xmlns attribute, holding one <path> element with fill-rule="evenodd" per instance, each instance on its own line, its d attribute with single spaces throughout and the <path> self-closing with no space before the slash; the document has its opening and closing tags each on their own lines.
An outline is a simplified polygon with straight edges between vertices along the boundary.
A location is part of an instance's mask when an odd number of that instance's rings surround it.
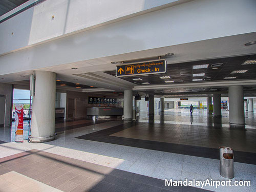
<svg viewBox="0 0 256 192">
<path fill-rule="evenodd" d="M 123 108 L 87 108 L 87 115 L 91 116 L 121 116 Z"/>
</svg>

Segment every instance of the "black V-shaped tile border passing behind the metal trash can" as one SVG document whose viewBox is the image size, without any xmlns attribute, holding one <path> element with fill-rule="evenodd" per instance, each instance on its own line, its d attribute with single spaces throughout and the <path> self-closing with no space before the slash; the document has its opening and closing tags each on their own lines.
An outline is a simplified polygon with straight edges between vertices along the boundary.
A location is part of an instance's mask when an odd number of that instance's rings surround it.
<svg viewBox="0 0 256 192">
<path fill-rule="evenodd" d="M 211 159 L 219 159 L 218 148 L 209 148 L 209 147 L 201 147 L 201 146 L 191 146 L 191 145 L 176 144 L 176 143 L 165 143 L 165 142 L 158 142 L 158 141 L 148 141 L 148 140 L 110 136 L 114 133 L 128 129 L 138 123 L 139 122 L 124 123 L 122 125 L 117 125 L 109 129 L 82 135 L 76 138 L 105 142 L 105 143 L 112 143 L 112 144 L 118 144 L 118 145 L 132 146 L 132 147 L 138 147 L 138 148 L 146 148 L 148 150 L 156 150 L 156 151 L 162 151 L 162 152 L 177 153 L 177 154 L 211 158 Z M 256 153 L 234 151 L 234 161 L 241 162 L 241 163 L 248 163 L 248 164 L 256 164 Z"/>
</svg>

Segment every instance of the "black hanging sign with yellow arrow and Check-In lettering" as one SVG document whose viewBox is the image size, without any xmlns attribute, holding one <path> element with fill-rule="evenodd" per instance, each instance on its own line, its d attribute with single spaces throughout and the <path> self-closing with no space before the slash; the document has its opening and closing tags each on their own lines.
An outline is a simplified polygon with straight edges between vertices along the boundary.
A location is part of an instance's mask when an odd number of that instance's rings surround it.
<svg viewBox="0 0 256 192">
<path fill-rule="evenodd" d="M 149 75 L 149 74 L 157 74 L 157 73 L 165 73 L 165 72 L 166 72 L 165 59 L 116 66 L 117 77 Z"/>
</svg>

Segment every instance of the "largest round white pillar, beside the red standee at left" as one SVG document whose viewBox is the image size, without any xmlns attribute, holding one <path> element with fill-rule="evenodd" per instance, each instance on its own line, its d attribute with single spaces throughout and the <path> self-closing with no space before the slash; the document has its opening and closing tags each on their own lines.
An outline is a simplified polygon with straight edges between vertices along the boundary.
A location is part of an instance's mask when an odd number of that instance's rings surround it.
<svg viewBox="0 0 256 192">
<path fill-rule="evenodd" d="M 55 139 L 56 73 L 35 71 L 30 142 Z"/>
</svg>

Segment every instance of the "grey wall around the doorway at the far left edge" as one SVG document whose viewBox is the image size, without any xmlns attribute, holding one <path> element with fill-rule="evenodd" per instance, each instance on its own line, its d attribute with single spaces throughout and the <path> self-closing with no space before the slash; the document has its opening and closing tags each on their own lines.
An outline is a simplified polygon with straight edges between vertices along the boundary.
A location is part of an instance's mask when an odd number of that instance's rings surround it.
<svg viewBox="0 0 256 192">
<path fill-rule="evenodd" d="M 11 108 L 12 108 L 12 84 L 0 83 L 0 95 L 5 95 L 5 123 L 4 126 L 11 126 Z M 2 114 L 3 115 L 3 114 Z"/>
</svg>

